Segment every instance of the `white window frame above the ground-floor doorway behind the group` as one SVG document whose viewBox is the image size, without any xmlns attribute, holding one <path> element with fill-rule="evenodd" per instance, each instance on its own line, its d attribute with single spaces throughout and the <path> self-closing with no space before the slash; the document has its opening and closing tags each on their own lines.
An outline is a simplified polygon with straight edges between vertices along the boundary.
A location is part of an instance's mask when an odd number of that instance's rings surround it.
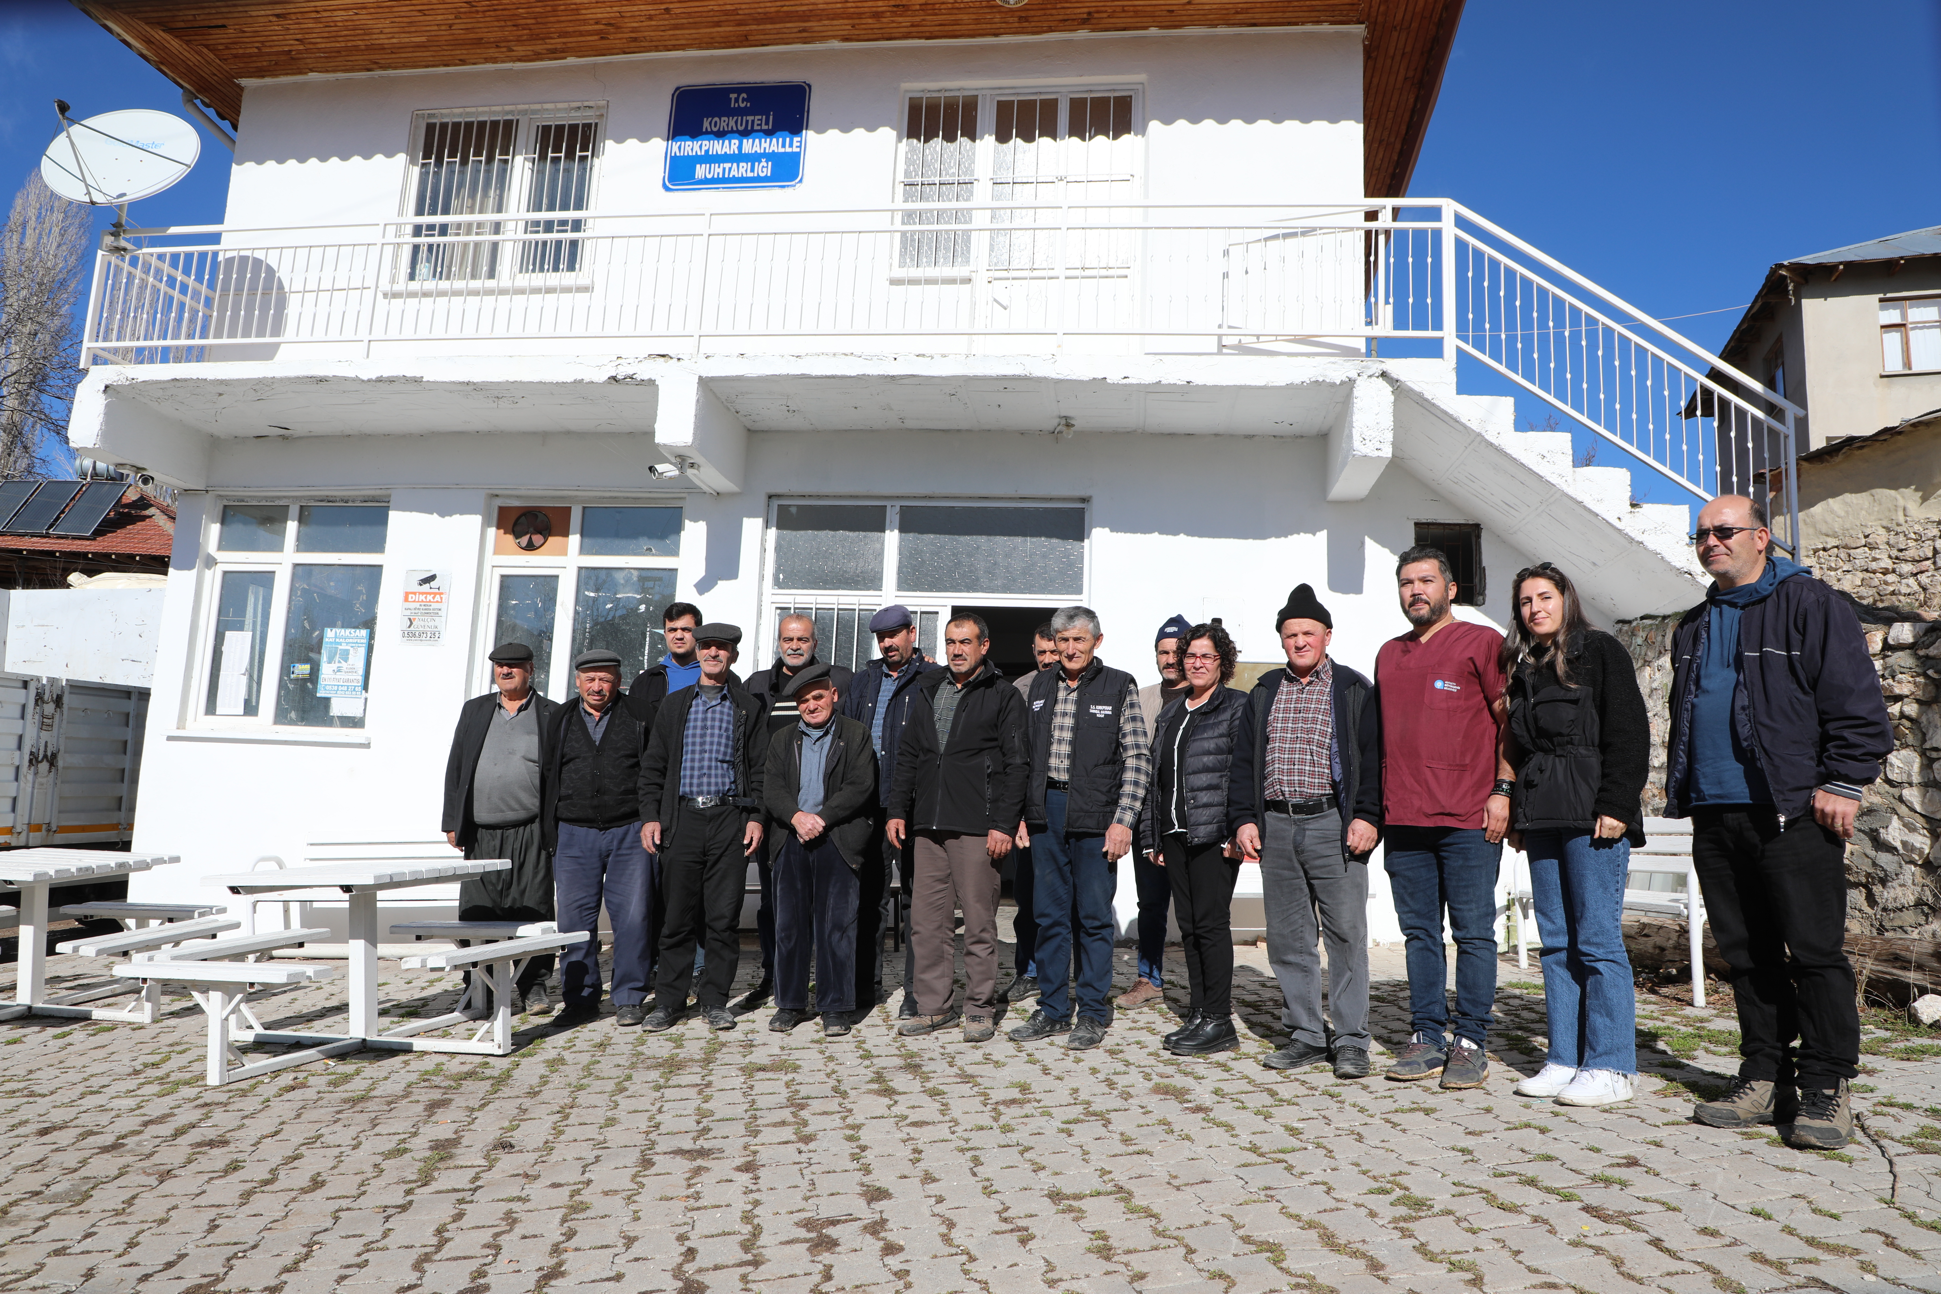
<svg viewBox="0 0 1941 1294">
<path fill-rule="evenodd" d="M 774 586 L 774 559 L 776 559 L 776 514 L 780 508 L 790 504 L 858 504 L 883 508 L 883 584 L 881 588 L 844 588 L 844 590 L 790 590 Z M 992 594 L 992 592 L 908 592 L 901 590 L 899 578 L 899 547 L 903 539 L 903 508 L 1077 508 L 1081 512 L 1081 541 L 1079 553 L 1079 592 L 1077 594 Z M 774 663 L 774 640 L 780 632 L 782 615 L 788 611 L 802 609 L 833 609 L 833 611 L 856 611 L 868 609 L 875 611 L 889 603 L 901 603 L 910 609 L 910 615 L 922 617 L 926 611 L 936 613 L 936 631 L 941 634 L 943 625 L 949 621 L 951 607 L 988 607 L 988 605 L 1007 605 L 1007 607 L 1044 607 L 1046 611 L 1056 611 L 1058 607 L 1069 607 L 1073 603 L 1085 603 L 1091 598 L 1091 559 L 1093 559 L 1093 516 L 1091 499 L 1062 499 L 1050 497 L 1009 497 L 1009 499 L 990 499 L 990 497 L 949 497 L 949 495 L 771 495 L 769 506 L 763 516 L 763 553 L 761 553 L 761 636 L 755 642 L 755 650 L 747 650 L 747 640 L 743 638 L 743 658 L 749 660 L 749 669 L 767 669 Z M 938 656 L 936 642 L 920 642 L 926 652 Z M 743 669 L 745 675 L 749 669 Z"/>
</svg>

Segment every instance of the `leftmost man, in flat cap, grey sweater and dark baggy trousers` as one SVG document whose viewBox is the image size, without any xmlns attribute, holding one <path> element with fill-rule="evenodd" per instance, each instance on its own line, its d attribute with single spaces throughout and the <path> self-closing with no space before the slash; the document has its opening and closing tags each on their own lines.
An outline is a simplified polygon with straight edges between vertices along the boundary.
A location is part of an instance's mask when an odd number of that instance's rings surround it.
<svg viewBox="0 0 1941 1294">
<path fill-rule="evenodd" d="M 559 704 L 532 689 L 532 648 L 501 642 L 491 650 L 497 691 L 458 710 L 452 755 L 444 762 L 444 838 L 466 857 L 509 857 L 510 871 L 458 883 L 460 922 L 551 922 L 553 865 L 540 826 L 547 741 Z M 514 1011 L 545 1015 L 551 956 L 534 956 L 514 986 Z M 483 1003 L 466 1015 L 485 1019 Z"/>
</svg>

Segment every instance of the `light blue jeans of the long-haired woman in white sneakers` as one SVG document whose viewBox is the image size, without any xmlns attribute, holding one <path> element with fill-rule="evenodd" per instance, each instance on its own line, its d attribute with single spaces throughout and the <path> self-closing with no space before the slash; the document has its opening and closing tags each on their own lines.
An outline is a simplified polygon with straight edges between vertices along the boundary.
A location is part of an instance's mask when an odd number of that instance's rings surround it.
<svg viewBox="0 0 1941 1294">
<path fill-rule="evenodd" d="M 1630 842 L 1588 830 L 1524 832 L 1530 892 L 1543 935 L 1551 1061 L 1638 1073 L 1638 991 L 1625 953 Z"/>
</svg>

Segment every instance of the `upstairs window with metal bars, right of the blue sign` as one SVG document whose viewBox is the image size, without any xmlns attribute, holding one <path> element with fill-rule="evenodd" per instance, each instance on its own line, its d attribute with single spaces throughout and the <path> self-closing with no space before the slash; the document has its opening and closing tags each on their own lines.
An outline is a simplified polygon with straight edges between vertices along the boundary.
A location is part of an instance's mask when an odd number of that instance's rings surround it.
<svg viewBox="0 0 1941 1294">
<path fill-rule="evenodd" d="M 905 225 L 972 225 L 951 204 L 1108 206 L 1137 196 L 1143 140 L 1132 89 L 1102 91 L 951 91 L 914 93 L 906 101 L 899 198 L 938 211 L 905 211 Z M 992 213 L 992 225 L 1056 223 L 1056 213 Z M 1054 233 L 990 235 L 988 268 L 1029 270 L 1054 264 Z M 965 233 L 903 235 L 905 270 L 969 268 L 974 237 Z"/>
</svg>

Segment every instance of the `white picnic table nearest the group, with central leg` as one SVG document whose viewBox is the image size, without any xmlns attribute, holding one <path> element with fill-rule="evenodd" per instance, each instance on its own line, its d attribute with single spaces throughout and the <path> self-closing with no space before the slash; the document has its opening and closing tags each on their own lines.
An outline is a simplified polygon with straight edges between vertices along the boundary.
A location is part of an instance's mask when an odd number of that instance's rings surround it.
<svg viewBox="0 0 1941 1294">
<path fill-rule="evenodd" d="M 243 1042 L 281 1042 L 281 1044 L 344 1044 L 359 1042 L 369 1048 L 394 1048 L 406 1051 L 474 1051 L 456 1040 L 410 1038 L 404 1030 L 382 1030 L 377 1007 L 377 896 L 384 890 L 402 890 L 413 885 L 444 885 L 466 877 L 483 877 L 493 871 L 510 871 L 512 861 L 505 857 L 344 857 L 313 859 L 307 867 L 285 867 L 280 871 L 237 871 L 204 877 L 204 885 L 221 885 L 231 894 L 283 894 L 291 890 L 340 890 L 347 898 L 349 910 L 349 1026 L 342 1034 L 313 1034 L 285 1030 L 237 1030 Z"/>
</svg>

